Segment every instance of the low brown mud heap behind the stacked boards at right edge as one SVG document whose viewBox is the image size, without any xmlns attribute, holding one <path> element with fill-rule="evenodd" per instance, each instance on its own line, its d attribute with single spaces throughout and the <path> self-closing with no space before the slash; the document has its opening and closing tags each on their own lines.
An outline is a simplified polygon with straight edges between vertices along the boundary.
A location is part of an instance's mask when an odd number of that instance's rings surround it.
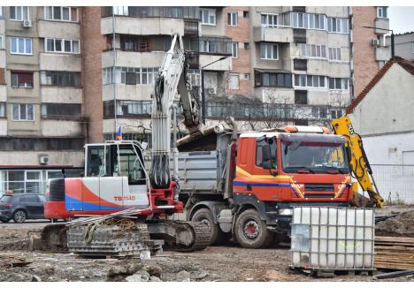
<svg viewBox="0 0 414 288">
<path fill-rule="evenodd" d="M 375 235 L 391 237 L 414 237 L 414 211 L 381 221 L 375 227 Z"/>
</svg>

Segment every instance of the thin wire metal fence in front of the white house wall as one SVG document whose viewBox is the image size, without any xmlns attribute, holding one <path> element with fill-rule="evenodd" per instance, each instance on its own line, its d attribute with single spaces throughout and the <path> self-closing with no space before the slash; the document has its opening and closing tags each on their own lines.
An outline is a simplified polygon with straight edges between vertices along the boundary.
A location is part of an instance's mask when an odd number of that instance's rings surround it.
<svg viewBox="0 0 414 288">
<path fill-rule="evenodd" d="M 392 204 L 414 204 L 414 165 L 372 164 L 381 196 Z"/>
</svg>

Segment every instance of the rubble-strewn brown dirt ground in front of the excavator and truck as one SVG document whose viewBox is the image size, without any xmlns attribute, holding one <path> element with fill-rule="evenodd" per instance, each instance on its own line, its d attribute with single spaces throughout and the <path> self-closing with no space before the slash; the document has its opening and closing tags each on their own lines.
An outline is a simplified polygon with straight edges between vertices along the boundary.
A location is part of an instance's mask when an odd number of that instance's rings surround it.
<svg viewBox="0 0 414 288">
<path fill-rule="evenodd" d="M 388 214 L 405 210 L 414 207 L 391 208 Z M 387 215 L 385 211 L 381 215 Z M 234 244 L 210 246 L 188 254 L 165 251 L 144 261 L 84 259 L 74 254 L 27 251 L 27 231 L 40 230 L 45 224 L 48 223 L 0 224 L 0 281 L 374 281 L 369 275 L 316 278 L 289 269 L 288 245 L 259 250 Z M 2 251 L 2 246 L 7 248 Z M 7 266 L 11 260 L 30 263 L 11 268 Z M 385 271 L 379 271 L 382 272 Z M 414 281 L 414 277 L 382 281 Z"/>
</svg>

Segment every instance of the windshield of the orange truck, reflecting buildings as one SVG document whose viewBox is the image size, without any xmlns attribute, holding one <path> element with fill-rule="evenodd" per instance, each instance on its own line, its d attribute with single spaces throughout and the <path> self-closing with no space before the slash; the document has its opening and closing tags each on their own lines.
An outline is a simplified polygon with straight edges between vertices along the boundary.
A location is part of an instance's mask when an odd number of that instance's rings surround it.
<svg viewBox="0 0 414 288">
<path fill-rule="evenodd" d="M 282 169 L 291 173 L 349 173 L 341 143 L 282 141 Z"/>
</svg>

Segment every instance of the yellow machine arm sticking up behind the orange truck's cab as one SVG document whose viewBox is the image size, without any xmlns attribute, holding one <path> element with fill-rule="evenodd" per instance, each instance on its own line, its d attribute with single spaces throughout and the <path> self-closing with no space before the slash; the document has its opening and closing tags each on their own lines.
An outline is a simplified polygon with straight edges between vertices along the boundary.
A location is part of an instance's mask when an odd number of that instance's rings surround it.
<svg viewBox="0 0 414 288">
<path fill-rule="evenodd" d="M 348 143 L 346 146 L 349 147 L 351 154 L 349 162 L 351 164 L 351 171 L 353 176 L 357 178 L 361 188 L 366 191 L 370 197 L 370 201 L 364 201 L 364 197 L 357 192 L 357 185 L 353 186 L 356 206 L 373 207 L 375 205 L 378 208 L 382 208 L 384 199 L 380 196 L 374 178 L 372 177 L 372 169 L 368 162 L 368 158 L 365 155 L 361 136 L 355 133 L 354 127 L 347 116 L 334 119 L 331 122 L 331 125 L 335 134 L 343 135 L 347 138 Z"/>
</svg>

